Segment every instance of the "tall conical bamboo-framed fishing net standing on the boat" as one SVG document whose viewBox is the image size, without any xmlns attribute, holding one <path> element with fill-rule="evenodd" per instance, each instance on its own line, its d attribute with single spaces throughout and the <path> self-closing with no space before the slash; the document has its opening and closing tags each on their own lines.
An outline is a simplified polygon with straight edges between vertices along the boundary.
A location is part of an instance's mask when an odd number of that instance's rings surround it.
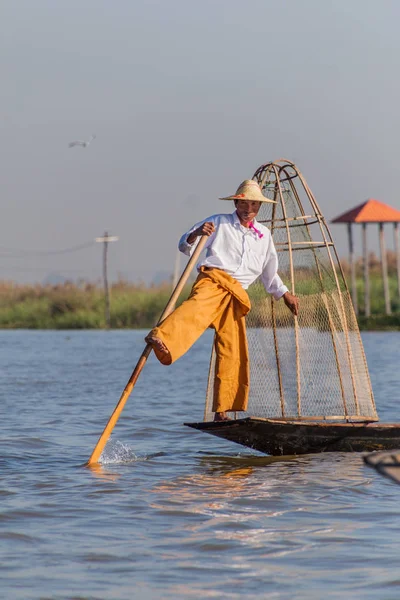
<svg viewBox="0 0 400 600">
<path fill-rule="evenodd" d="M 294 317 L 257 280 L 248 292 L 250 397 L 246 413 L 276 419 L 377 421 L 357 319 L 329 228 L 302 173 L 279 159 L 253 175 L 268 198 L 257 220 L 269 227 L 279 273 L 300 299 Z M 211 412 L 211 355 L 204 419 Z"/>
</svg>

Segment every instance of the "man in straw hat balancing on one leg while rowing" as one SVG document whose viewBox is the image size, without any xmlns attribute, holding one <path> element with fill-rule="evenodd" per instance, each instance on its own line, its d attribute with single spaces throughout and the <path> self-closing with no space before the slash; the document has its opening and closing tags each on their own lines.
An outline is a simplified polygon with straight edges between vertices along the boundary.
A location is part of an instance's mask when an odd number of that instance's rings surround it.
<svg viewBox="0 0 400 600">
<path fill-rule="evenodd" d="M 214 421 L 228 420 L 227 412 L 245 411 L 249 394 L 249 360 L 245 315 L 251 308 L 246 292 L 257 277 L 275 300 L 283 298 L 294 315 L 298 298 L 278 275 L 278 257 L 267 227 L 256 221 L 266 198 L 256 181 L 245 180 L 233 200 L 232 214 L 217 214 L 196 223 L 179 241 L 179 250 L 190 256 L 196 240 L 206 235 L 206 256 L 189 298 L 150 331 L 158 360 L 170 365 L 194 344 L 202 333 L 215 329 Z"/>
</svg>

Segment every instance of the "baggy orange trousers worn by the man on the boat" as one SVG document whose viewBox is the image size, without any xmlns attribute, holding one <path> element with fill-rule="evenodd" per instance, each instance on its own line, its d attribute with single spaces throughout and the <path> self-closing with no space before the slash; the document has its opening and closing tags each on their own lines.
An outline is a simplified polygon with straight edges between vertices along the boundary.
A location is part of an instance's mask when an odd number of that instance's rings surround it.
<svg viewBox="0 0 400 600">
<path fill-rule="evenodd" d="M 214 412 L 247 409 L 249 359 L 245 315 L 251 308 L 240 283 L 220 269 L 201 267 L 190 296 L 151 334 L 160 338 L 172 364 L 208 328 L 215 329 Z M 157 356 L 157 351 L 154 349 Z"/>
</svg>

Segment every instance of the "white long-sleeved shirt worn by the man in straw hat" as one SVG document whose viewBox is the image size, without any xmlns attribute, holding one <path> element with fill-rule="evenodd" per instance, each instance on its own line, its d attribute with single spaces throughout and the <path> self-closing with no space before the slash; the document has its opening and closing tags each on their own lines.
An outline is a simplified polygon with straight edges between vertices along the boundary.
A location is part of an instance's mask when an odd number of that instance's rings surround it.
<svg viewBox="0 0 400 600">
<path fill-rule="evenodd" d="M 207 239 L 206 257 L 199 262 L 197 269 L 201 266 L 222 269 L 237 279 L 244 289 L 261 275 L 265 289 L 276 300 L 288 291 L 278 275 L 278 256 L 270 230 L 254 219 L 254 227 L 263 234 L 260 237 L 253 229 L 241 225 L 236 211 L 213 215 L 193 225 L 179 240 L 181 252 L 188 256 L 193 254 L 199 239 L 188 244 L 187 238 L 207 221 L 214 224 L 215 231 Z"/>
</svg>

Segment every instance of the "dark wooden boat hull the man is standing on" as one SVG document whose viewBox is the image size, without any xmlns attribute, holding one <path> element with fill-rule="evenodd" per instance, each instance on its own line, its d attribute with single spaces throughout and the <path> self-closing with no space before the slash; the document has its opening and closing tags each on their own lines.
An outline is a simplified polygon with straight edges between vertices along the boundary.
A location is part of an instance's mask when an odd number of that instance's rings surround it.
<svg viewBox="0 0 400 600">
<path fill-rule="evenodd" d="M 400 448 L 400 423 L 308 423 L 248 417 L 185 425 L 272 456 Z"/>
</svg>

